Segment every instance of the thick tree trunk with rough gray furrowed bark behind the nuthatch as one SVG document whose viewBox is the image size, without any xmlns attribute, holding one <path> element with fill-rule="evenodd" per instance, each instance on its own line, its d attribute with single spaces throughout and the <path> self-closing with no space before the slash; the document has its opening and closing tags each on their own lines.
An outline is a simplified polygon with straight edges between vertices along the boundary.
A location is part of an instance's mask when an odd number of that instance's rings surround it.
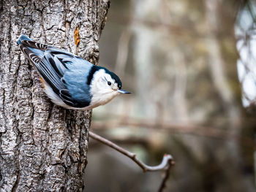
<svg viewBox="0 0 256 192">
<path fill-rule="evenodd" d="M 108 8 L 108 0 L 0 1 L 0 191 L 83 191 L 91 112 L 52 104 L 16 40 L 26 34 L 97 64 Z"/>
</svg>

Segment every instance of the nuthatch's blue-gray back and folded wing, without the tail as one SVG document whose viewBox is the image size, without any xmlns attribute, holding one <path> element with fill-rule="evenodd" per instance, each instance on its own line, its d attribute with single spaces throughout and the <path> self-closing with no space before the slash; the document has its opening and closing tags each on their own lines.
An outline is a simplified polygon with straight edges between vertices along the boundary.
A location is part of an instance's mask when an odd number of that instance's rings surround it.
<svg viewBox="0 0 256 192">
<path fill-rule="evenodd" d="M 91 69 L 91 63 L 72 53 L 48 47 L 35 66 L 65 104 L 76 108 L 89 106 L 91 96 L 86 73 Z"/>
</svg>

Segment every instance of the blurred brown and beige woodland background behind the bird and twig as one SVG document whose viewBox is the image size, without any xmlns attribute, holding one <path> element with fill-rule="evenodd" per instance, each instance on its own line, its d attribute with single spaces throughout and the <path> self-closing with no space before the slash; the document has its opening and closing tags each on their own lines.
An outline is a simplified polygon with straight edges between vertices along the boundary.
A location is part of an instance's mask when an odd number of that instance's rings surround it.
<svg viewBox="0 0 256 192">
<path fill-rule="evenodd" d="M 256 2 L 111 0 L 99 65 L 132 94 L 93 110 L 91 131 L 157 165 L 165 191 L 255 191 Z M 157 191 L 162 172 L 90 139 L 86 191 Z"/>
</svg>

